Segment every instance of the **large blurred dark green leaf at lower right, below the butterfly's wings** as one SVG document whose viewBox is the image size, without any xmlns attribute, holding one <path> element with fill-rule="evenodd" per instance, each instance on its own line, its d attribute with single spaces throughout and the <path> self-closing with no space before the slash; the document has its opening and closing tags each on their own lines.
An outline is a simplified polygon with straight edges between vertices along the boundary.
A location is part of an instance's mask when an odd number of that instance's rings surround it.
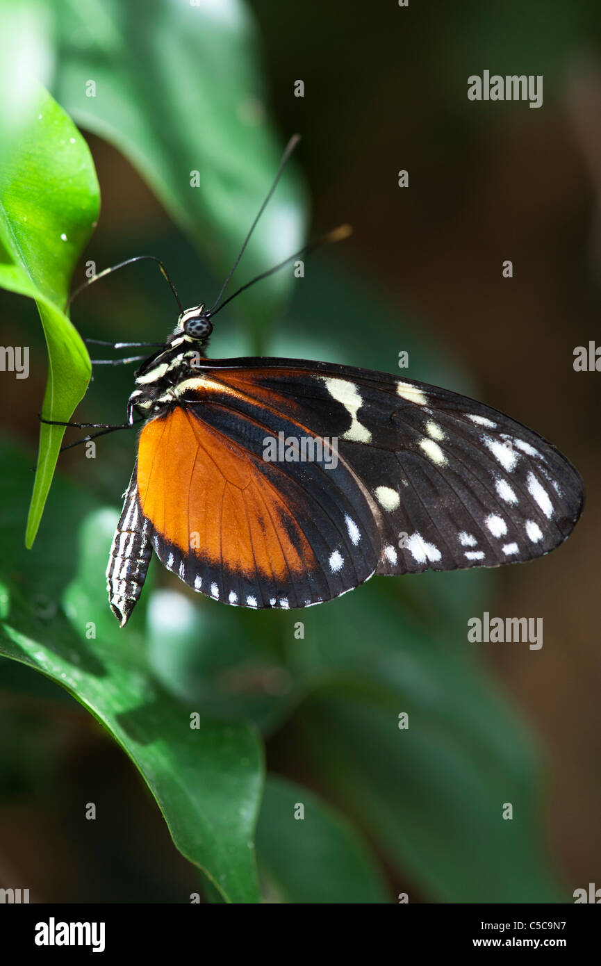
<svg viewBox="0 0 601 966">
<path fill-rule="evenodd" d="M 388 584 L 304 617 L 298 670 L 321 694 L 297 718 L 302 747 L 334 801 L 429 899 L 563 901 L 542 834 L 537 750 L 474 667 L 469 611 L 463 628 L 432 633 Z"/>
</svg>

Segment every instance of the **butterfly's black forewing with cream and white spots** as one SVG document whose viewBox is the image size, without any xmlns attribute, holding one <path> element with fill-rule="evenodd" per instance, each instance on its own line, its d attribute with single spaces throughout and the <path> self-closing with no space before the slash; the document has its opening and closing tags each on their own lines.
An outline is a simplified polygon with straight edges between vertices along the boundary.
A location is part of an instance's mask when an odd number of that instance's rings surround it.
<svg viewBox="0 0 601 966">
<path fill-rule="evenodd" d="M 557 547 L 582 512 L 582 479 L 558 449 L 466 396 L 326 363 L 236 361 L 212 361 L 211 380 L 337 438 L 372 500 L 378 573 L 529 560 Z"/>
</svg>

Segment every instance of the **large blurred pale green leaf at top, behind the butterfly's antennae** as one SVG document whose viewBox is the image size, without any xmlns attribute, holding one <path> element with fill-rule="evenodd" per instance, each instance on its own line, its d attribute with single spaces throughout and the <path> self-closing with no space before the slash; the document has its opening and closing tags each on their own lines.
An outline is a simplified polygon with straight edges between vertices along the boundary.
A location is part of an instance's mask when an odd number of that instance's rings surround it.
<svg viewBox="0 0 601 966">
<path fill-rule="evenodd" d="M 293 133 L 276 139 L 269 128 L 244 4 L 68 0 L 57 32 L 57 99 L 129 158 L 224 279 Z M 288 170 L 229 293 L 296 251 L 302 228 L 300 186 Z M 284 271 L 243 296 L 257 335 L 292 278 Z"/>
</svg>

